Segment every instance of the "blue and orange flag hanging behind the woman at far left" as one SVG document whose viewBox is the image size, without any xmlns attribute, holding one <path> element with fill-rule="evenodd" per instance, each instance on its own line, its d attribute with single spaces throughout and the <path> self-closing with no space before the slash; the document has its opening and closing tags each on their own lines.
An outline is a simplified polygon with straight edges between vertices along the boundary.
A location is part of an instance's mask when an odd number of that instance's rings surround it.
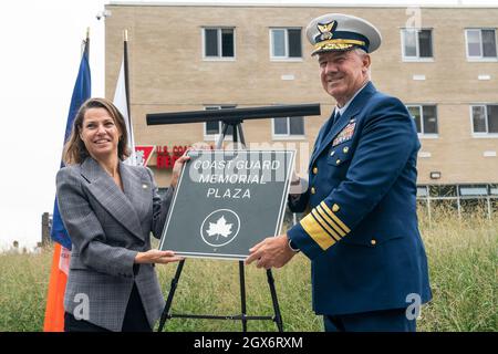
<svg viewBox="0 0 498 354">
<path fill-rule="evenodd" d="M 83 55 L 80 62 L 76 83 L 74 84 L 73 95 L 71 97 L 71 106 L 65 124 L 64 144 L 68 140 L 73 121 L 80 106 L 91 96 L 91 75 L 89 65 L 90 39 L 83 42 Z M 61 168 L 64 163 L 61 162 Z M 59 214 L 58 200 L 53 207 L 52 231 L 51 237 L 55 241 L 52 258 L 52 269 L 49 281 L 49 292 L 46 295 L 45 320 L 43 323 L 44 332 L 62 332 L 64 331 L 64 293 L 65 283 L 68 282 L 69 262 L 71 258 L 71 239 L 62 223 Z"/>
</svg>

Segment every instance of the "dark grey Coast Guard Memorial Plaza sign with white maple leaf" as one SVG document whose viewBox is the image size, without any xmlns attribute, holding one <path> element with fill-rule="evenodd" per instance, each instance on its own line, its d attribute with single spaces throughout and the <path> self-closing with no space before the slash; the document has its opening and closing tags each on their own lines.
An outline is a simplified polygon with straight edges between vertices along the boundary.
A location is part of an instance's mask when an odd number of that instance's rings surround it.
<svg viewBox="0 0 498 354">
<path fill-rule="evenodd" d="M 293 150 L 190 150 L 159 249 L 184 257 L 245 259 L 280 233 Z"/>
</svg>

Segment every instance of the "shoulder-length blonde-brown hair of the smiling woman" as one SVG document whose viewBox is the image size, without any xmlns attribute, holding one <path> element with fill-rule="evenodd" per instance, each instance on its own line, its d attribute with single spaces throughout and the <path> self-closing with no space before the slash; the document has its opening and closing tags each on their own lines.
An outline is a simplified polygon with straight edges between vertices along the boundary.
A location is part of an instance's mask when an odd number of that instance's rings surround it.
<svg viewBox="0 0 498 354">
<path fill-rule="evenodd" d="M 76 117 L 73 122 L 71 136 L 64 145 L 64 152 L 62 154 L 62 160 L 64 162 L 64 164 L 81 164 L 85 160 L 86 157 L 90 156 L 90 153 L 80 136 L 83 127 L 83 119 L 85 117 L 86 111 L 89 111 L 90 108 L 104 108 L 105 111 L 107 111 L 121 133 L 120 142 L 117 144 L 117 157 L 121 160 L 126 159 L 129 156 L 127 145 L 128 135 L 126 132 L 126 124 L 123 115 L 120 113 L 116 106 L 106 98 L 89 98 L 81 105 L 80 110 L 77 110 Z"/>
</svg>

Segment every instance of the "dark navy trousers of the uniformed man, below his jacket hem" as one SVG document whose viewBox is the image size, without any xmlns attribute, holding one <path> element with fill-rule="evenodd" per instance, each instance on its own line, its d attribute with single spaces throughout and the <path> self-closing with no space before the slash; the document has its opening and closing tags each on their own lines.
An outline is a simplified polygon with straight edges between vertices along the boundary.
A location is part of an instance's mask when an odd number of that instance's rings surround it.
<svg viewBox="0 0 498 354">
<path fill-rule="evenodd" d="M 393 309 L 353 313 L 345 315 L 324 315 L 325 332 L 415 332 L 416 320 L 406 317 L 405 309 Z"/>
</svg>

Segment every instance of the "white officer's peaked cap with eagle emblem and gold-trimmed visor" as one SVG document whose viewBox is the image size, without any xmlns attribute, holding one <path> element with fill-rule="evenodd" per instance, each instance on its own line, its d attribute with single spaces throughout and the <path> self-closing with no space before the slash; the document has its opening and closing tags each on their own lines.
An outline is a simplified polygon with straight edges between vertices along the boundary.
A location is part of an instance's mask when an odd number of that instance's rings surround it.
<svg viewBox="0 0 498 354">
<path fill-rule="evenodd" d="M 369 21 L 343 13 L 326 13 L 307 27 L 307 37 L 314 46 L 311 55 L 361 48 L 372 53 L 381 46 L 381 32 Z"/>
</svg>

